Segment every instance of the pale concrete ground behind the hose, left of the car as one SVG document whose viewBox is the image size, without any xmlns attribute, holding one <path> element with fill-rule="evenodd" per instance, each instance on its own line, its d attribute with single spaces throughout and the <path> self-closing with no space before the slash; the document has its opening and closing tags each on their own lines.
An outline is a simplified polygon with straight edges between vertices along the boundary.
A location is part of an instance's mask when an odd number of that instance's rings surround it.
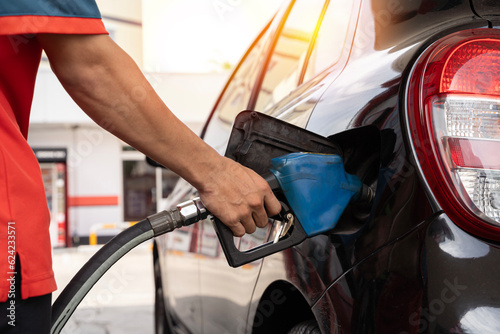
<svg viewBox="0 0 500 334">
<path fill-rule="evenodd" d="M 57 298 L 73 275 L 101 246 L 55 249 Z M 97 282 L 70 318 L 62 333 L 153 333 L 154 277 L 151 243 L 142 244 Z"/>
</svg>

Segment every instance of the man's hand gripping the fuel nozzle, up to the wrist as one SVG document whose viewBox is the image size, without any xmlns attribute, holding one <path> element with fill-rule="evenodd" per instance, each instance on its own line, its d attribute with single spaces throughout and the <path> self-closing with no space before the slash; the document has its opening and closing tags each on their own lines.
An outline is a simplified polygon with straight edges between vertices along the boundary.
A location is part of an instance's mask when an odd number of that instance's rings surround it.
<svg viewBox="0 0 500 334">
<path fill-rule="evenodd" d="M 267 182 L 253 170 L 221 157 L 220 168 L 206 177 L 200 198 L 207 209 L 235 236 L 265 227 L 268 216 L 277 215 L 281 205 Z"/>
</svg>

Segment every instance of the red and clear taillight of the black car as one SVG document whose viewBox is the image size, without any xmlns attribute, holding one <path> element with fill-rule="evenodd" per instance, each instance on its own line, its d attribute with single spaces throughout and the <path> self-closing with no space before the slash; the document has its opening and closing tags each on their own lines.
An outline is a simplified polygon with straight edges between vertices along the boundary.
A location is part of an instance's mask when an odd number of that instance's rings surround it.
<svg viewBox="0 0 500 334">
<path fill-rule="evenodd" d="M 408 86 L 418 162 L 463 229 L 500 240 L 500 33 L 474 29 L 428 48 Z"/>
</svg>

